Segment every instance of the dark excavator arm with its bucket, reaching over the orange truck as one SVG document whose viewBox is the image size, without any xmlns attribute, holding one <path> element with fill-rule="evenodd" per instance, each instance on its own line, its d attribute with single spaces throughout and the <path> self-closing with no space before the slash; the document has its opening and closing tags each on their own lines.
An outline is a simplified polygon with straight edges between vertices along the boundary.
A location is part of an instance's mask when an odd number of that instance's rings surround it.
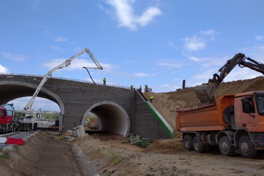
<svg viewBox="0 0 264 176">
<path fill-rule="evenodd" d="M 251 62 L 245 61 L 246 59 Z M 250 57 L 245 57 L 242 53 L 238 53 L 218 70 L 219 74 L 213 74 L 213 78 L 209 79 L 208 83 L 198 85 L 194 88 L 197 98 L 200 100 L 211 100 L 218 85 L 222 83 L 223 79 L 235 68 L 236 65 L 239 65 L 241 68 L 248 67 L 264 75 L 264 64 L 255 61 Z"/>
</svg>

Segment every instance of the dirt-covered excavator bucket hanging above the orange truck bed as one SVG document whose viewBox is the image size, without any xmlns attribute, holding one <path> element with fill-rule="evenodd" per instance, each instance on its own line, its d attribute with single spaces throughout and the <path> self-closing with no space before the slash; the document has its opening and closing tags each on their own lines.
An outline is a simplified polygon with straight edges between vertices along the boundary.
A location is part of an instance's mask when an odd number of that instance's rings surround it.
<svg viewBox="0 0 264 176">
<path fill-rule="evenodd" d="M 199 85 L 194 90 L 199 100 L 212 100 L 216 88 L 216 85 Z"/>
</svg>

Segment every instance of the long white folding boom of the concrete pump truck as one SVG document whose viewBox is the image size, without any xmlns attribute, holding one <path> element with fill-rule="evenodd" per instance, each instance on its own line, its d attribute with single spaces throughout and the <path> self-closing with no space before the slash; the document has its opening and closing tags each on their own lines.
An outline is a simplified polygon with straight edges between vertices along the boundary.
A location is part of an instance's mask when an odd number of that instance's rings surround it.
<svg viewBox="0 0 264 176">
<path fill-rule="evenodd" d="M 72 56 L 71 58 L 69 58 L 68 60 L 66 60 L 64 63 L 56 66 L 53 69 L 51 69 L 47 74 L 44 75 L 44 77 L 41 80 L 40 84 L 38 85 L 36 91 L 34 92 L 33 96 L 29 100 L 27 106 L 25 106 L 25 108 L 24 108 L 25 114 L 27 114 L 26 116 L 29 116 L 31 114 L 31 106 L 32 106 L 34 100 L 36 99 L 37 94 L 39 93 L 39 91 L 42 88 L 43 84 L 52 76 L 52 73 L 55 70 L 58 70 L 58 69 L 61 69 L 61 68 L 64 68 L 64 67 L 68 67 L 69 65 L 71 65 L 71 62 L 73 61 L 73 59 L 75 59 L 77 56 L 80 56 L 84 52 L 87 52 L 88 53 L 88 55 L 91 57 L 91 59 L 94 61 L 95 65 L 97 66 L 97 67 L 94 67 L 94 68 L 93 67 L 85 67 L 85 68 L 92 68 L 92 69 L 100 69 L 100 70 L 103 70 L 103 67 L 95 59 L 94 55 L 90 52 L 90 50 L 87 49 L 87 48 L 83 49 L 81 52 L 78 52 L 76 55 Z"/>
</svg>

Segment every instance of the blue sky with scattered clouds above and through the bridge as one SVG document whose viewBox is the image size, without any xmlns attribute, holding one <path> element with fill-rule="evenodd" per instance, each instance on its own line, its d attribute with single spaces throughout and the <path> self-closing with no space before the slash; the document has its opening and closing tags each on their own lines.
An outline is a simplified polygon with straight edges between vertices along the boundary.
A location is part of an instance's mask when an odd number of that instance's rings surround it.
<svg viewBox="0 0 264 176">
<path fill-rule="evenodd" d="M 207 82 L 239 52 L 264 63 L 262 0 L 2 0 L 0 16 L 2 73 L 45 75 L 89 48 L 103 66 L 89 69 L 95 82 L 161 93 Z M 84 53 L 52 76 L 92 82 L 91 63 Z M 237 66 L 224 81 L 261 75 Z M 59 111 L 52 103 L 33 105 Z"/>
</svg>

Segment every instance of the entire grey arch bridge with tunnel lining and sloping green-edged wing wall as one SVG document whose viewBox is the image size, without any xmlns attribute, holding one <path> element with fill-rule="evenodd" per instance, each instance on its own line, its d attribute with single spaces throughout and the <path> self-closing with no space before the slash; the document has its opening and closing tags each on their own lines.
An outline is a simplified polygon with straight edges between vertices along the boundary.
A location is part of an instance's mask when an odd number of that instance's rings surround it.
<svg viewBox="0 0 264 176">
<path fill-rule="evenodd" d="M 43 76 L 0 73 L 0 104 L 20 97 L 31 97 Z M 150 142 L 173 138 L 174 130 L 136 90 L 80 80 L 49 78 L 38 97 L 57 103 L 61 113 L 59 132 L 84 125 L 89 112 L 100 121 L 100 131 L 128 136 L 135 133 Z"/>
</svg>

